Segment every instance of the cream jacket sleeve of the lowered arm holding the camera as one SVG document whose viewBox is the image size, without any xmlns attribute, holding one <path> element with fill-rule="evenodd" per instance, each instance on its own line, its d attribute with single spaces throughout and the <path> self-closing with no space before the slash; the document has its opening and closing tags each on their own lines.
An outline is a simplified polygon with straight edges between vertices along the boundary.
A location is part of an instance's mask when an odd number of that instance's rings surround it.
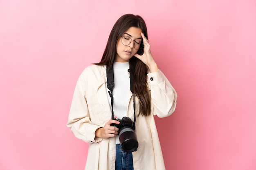
<svg viewBox="0 0 256 170">
<path fill-rule="evenodd" d="M 101 141 L 101 138 L 95 139 L 95 131 L 100 128 L 96 124 L 92 124 L 90 120 L 90 113 L 88 111 L 88 105 L 85 95 L 85 78 L 84 72 L 79 76 L 74 90 L 74 96 L 70 107 L 70 113 L 68 116 L 67 127 L 71 129 L 71 132 L 84 142 L 96 143 Z"/>
</svg>

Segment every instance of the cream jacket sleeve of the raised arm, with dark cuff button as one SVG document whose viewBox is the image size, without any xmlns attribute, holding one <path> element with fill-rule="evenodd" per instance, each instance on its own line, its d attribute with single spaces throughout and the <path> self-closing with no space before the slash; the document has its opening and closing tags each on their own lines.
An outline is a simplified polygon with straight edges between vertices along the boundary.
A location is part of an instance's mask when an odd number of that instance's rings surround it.
<svg viewBox="0 0 256 170">
<path fill-rule="evenodd" d="M 153 115 L 159 118 L 170 116 L 176 107 L 177 93 L 161 70 L 148 73 L 148 87 Z"/>
</svg>

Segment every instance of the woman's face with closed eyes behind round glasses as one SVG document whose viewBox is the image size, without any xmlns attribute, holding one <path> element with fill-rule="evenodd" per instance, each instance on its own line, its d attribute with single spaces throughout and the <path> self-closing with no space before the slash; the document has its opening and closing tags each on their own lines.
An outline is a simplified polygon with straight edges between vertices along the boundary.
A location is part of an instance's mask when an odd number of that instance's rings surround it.
<svg viewBox="0 0 256 170">
<path fill-rule="evenodd" d="M 130 39 L 135 41 L 142 41 L 141 29 L 136 27 L 130 27 L 122 36 L 128 36 Z M 115 61 L 117 62 L 128 62 L 138 50 L 134 48 L 135 41 L 131 40 L 131 43 L 125 46 L 122 43 L 122 37 L 119 37 L 117 41 L 117 54 L 115 56 Z"/>
</svg>

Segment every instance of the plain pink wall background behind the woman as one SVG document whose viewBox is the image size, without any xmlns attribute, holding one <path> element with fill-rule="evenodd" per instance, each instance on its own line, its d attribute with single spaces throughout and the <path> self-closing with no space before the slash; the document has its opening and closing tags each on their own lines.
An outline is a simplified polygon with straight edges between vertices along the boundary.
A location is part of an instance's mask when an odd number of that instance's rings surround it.
<svg viewBox="0 0 256 170">
<path fill-rule="evenodd" d="M 84 169 L 74 87 L 125 13 L 144 17 L 178 94 L 156 118 L 166 169 L 255 170 L 255 0 L 1 0 L 0 170 Z"/>
</svg>

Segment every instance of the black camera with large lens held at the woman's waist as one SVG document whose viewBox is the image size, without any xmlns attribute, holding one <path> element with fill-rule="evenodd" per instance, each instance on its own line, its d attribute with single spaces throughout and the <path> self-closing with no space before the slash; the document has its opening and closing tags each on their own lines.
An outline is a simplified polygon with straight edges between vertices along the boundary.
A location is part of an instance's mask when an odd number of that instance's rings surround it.
<svg viewBox="0 0 256 170">
<path fill-rule="evenodd" d="M 111 126 L 119 128 L 118 135 L 122 149 L 125 152 L 136 151 L 139 143 L 134 132 L 135 122 L 132 122 L 132 120 L 128 117 L 117 119 L 117 121 L 120 122 L 120 124 L 112 123 Z"/>
</svg>

